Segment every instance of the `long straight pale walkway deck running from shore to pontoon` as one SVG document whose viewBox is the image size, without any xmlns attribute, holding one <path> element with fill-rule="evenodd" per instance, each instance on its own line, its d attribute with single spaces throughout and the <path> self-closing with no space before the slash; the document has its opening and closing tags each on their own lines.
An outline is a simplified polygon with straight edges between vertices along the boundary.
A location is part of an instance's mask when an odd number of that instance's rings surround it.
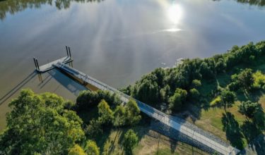
<svg viewBox="0 0 265 155">
<path fill-rule="evenodd" d="M 127 103 L 129 99 L 134 99 L 122 92 L 119 92 L 119 90 L 113 87 L 110 87 L 109 85 L 106 85 L 103 82 L 96 80 L 93 77 L 90 77 L 84 73 L 81 73 L 80 71 L 74 68 L 66 66 L 63 63 L 56 63 L 54 64 L 54 66 L 56 66 L 60 70 L 63 70 L 66 73 L 73 75 L 74 77 L 77 77 L 80 80 L 83 80 L 84 82 L 89 83 L 90 85 L 98 87 L 99 89 L 108 90 L 112 93 L 116 93 L 117 95 L 119 95 L 120 99 L 124 101 L 124 103 Z M 206 137 L 205 135 L 202 135 L 201 133 L 196 132 L 195 130 L 187 128 L 187 126 L 182 125 L 180 121 L 178 122 L 177 120 L 172 119 L 171 116 L 161 111 L 158 111 L 157 109 L 154 109 L 153 107 L 148 106 L 147 104 L 144 104 L 141 101 L 138 101 L 136 99 L 134 100 L 137 102 L 139 109 L 143 113 L 146 113 L 151 118 L 155 118 L 156 120 L 159 120 L 160 122 L 164 123 L 165 125 L 170 126 L 171 128 L 174 128 L 175 130 L 178 130 L 179 132 L 182 132 L 184 135 L 192 137 L 192 139 L 197 140 L 198 142 L 201 142 L 202 144 L 205 144 L 207 147 L 210 147 L 211 149 L 218 151 L 220 154 L 237 154 L 240 151 L 228 144 L 227 145 L 220 144 L 210 139 L 209 137 Z"/>
</svg>

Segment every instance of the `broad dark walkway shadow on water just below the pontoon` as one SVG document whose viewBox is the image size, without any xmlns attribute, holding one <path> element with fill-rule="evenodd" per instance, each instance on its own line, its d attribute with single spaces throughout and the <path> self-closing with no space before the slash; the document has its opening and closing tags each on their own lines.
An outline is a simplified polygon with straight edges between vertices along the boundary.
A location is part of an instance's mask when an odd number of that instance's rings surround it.
<svg viewBox="0 0 265 155">
<path fill-rule="evenodd" d="M 78 82 L 73 80 L 68 75 L 61 73 L 59 70 L 54 69 L 50 70 L 49 75 L 54 78 L 54 80 L 57 80 L 62 86 L 64 86 L 66 89 L 69 90 L 69 92 L 73 93 L 75 96 L 78 96 L 79 92 L 86 90 L 87 88 L 83 85 L 80 85 Z M 43 86 L 42 86 L 43 87 Z M 54 92 L 57 89 L 54 90 Z"/>
</svg>

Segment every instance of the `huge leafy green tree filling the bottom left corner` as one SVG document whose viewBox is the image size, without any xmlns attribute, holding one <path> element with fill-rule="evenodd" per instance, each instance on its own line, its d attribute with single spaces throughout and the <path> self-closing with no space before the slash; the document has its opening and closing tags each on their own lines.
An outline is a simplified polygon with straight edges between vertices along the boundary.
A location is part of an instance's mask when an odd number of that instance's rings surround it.
<svg viewBox="0 0 265 155">
<path fill-rule="evenodd" d="M 9 106 L 7 128 L 0 136 L 4 154 L 67 154 L 84 136 L 83 121 L 76 112 L 64 109 L 66 102 L 56 94 L 20 92 Z"/>
</svg>

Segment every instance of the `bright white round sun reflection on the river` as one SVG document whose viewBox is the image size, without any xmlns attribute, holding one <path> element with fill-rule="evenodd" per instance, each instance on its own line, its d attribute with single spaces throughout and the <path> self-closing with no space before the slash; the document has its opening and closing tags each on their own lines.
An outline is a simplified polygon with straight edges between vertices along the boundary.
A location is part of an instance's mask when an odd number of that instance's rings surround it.
<svg viewBox="0 0 265 155">
<path fill-rule="evenodd" d="M 167 16 L 173 24 L 179 23 L 182 18 L 182 8 L 178 4 L 172 4 L 167 10 Z"/>
</svg>

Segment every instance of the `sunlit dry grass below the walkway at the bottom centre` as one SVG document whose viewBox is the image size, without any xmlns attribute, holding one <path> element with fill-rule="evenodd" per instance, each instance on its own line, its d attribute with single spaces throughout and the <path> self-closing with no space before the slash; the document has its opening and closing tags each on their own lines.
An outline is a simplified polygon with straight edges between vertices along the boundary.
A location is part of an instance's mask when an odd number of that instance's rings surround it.
<svg viewBox="0 0 265 155">
<path fill-rule="evenodd" d="M 112 130 L 107 140 L 100 145 L 102 154 L 125 154 L 121 145 L 121 138 L 126 128 Z M 182 142 L 175 142 L 158 132 L 150 130 L 148 125 L 133 128 L 139 135 L 139 144 L 132 150 L 132 154 L 206 154 Z"/>
</svg>

